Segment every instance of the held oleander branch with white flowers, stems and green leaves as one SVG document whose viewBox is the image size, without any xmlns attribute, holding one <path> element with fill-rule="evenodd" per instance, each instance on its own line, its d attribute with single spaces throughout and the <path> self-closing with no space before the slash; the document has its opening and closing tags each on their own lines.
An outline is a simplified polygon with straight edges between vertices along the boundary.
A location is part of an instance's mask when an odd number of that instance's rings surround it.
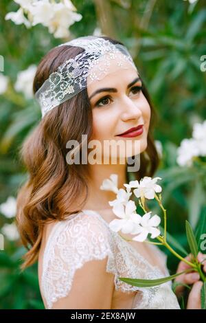
<svg viewBox="0 0 206 323">
<path fill-rule="evenodd" d="M 104 179 L 102 186 L 100 186 L 101 190 L 111 190 L 116 194 L 116 199 L 113 201 L 109 201 L 108 203 L 113 206 L 113 213 L 119 219 L 114 219 L 109 223 L 109 227 L 111 230 L 118 232 L 122 231 L 125 234 L 137 234 L 133 239 L 128 239 L 122 236 L 126 241 L 139 241 L 152 243 L 154 245 L 164 245 L 176 258 L 179 258 L 181 261 L 190 266 L 190 269 L 187 271 L 198 271 L 201 276 L 201 279 L 206 284 L 205 274 L 201 269 L 201 263 L 198 262 L 197 254 L 198 247 L 196 244 L 196 239 L 192 232 L 192 227 L 190 223 L 186 221 L 186 233 L 187 240 L 190 245 L 190 249 L 193 255 L 191 261 L 183 258 L 178 252 L 176 252 L 171 245 L 167 241 L 167 210 L 163 207 L 162 199 L 161 199 L 161 186 L 157 185 L 157 180 L 161 179 L 160 177 L 155 177 L 152 179 L 151 177 L 144 177 L 140 181 L 130 181 L 130 183 L 124 183 L 126 190 L 117 188 L 117 175 L 112 174 L 111 179 Z M 133 193 L 138 198 L 139 206 L 144 211 L 144 215 L 141 216 L 137 214 L 137 205 L 135 205 L 134 201 L 130 200 L 131 189 Z M 157 194 L 159 193 L 159 194 Z M 148 212 L 146 207 L 146 199 L 155 199 L 157 203 L 159 203 L 159 207 L 163 211 L 164 218 L 164 227 L 163 227 L 163 235 L 161 235 L 161 231 L 159 230 L 159 223 L 161 222 L 160 217 L 155 214 L 151 217 L 151 211 Z M 159 243 L 146 241 L 148 234 L 151 234 L 151 238 L 157 238 Z M 186 271 L 184 271 L 186 273 Z M 182 273 L 183 274 L 183 273 Z M 158 280 L 143 280 L 143 279 L 131 279 L 131 278 L 119 278 L 130 285 L 134 286 L 156 286 L 160 285 L 165 281 L 172 280 L 179 276 L 179 274 L 172 275 L 166 278 L 159 278 Z M 204 285 L 205 286 L 205 285 Z"/>
</svg>

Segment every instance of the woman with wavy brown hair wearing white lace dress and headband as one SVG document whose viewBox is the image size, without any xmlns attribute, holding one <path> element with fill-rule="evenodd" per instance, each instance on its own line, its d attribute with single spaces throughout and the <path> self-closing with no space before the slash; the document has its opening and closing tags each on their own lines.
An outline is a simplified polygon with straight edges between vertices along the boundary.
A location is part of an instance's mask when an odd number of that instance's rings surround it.
<svg viewBox="0 0 206 323">
<path fill-rule="evenodd" d="M 21 151 L 30 178 L 17 199 L 17 225 L 29 249 L 22 268 L 38 260 L 45 307 L 179 309 L 171 282 L 144 289 L 118 279 L 169 275 L 157 246 L 127 242 L 129 234 L 121 237 L 109 229 L 115 216 L 108 201 L 114 193 L 100 189 L 113 173 L 118 188 L 124 188 L 130 178 L 127 162 L 134 156 L 140 155 L 135 179 L 152 176 L 159 164 L 152 139 L 155 111 L 126 47 L 95 36 L 54 47 L 38 65 L 34 93 L 43 119 Z M 90 145 L 85 154 L 82 135 L 89 144 L 98 142 L 95 152 Z M 102 148 L 119 140 L 118 152 Z M 68 155 L 73 141 L 80 144 Z M 80 162 L 85 156 L 87 162 Z M 117 157 L 115 164 L 112 157 Z M 188 309 L 200 307 L 202 283 L 196 284 Z"/>
</svg>

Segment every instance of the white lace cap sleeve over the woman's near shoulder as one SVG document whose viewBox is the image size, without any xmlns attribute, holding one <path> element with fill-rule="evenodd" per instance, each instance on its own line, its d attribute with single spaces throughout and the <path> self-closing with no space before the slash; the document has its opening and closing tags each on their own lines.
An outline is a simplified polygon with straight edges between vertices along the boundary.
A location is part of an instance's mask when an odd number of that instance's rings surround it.
<svg viewBox="0 0 206 323">
<path fill-rule="evenodd" d="M 54 227 L 45 249 L 42 287 L 47 308 L 68 296 L 77 269 L 89 260 L 102 260 L 111 255 L 108 232 L 94 216 L 71 215 Z"/>
</svg>

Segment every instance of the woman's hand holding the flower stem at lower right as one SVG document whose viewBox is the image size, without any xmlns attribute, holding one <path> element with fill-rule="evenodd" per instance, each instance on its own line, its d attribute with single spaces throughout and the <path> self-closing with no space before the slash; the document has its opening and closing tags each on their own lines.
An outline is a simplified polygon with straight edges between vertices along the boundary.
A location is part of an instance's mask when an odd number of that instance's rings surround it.
<svg viewBox="0 0 206 323">
<path fill-rule="evenodd" d="M 203 265 L 203 271 L 206 273 L 206 254 L 202 254 L 201 252 L 198 253 L 198 261 Z M 192 254 L 189 254 L 185 257 L 186 260 L 192 260 Z M 184 271 L 185 269 L 190 269 L 190 265 L 187 265 L 183 261 L 179 263 L 177 267 L 176 274 Z M 186 285 L 193 285 L 188 296 L 187 300 L 187 309 L 201 309 L 201 288 L 203 286 L 203 282 L 200 280 L 200 275 L 197 271 L 191 271 L 188 274 L 182 274 L 175 278 L 174 282 L 181 282 L 182 284 Z M 176 296 L 179 298 L 184 291 L 184 286 L 177 286 L 175 293 Z"/>
</svg>

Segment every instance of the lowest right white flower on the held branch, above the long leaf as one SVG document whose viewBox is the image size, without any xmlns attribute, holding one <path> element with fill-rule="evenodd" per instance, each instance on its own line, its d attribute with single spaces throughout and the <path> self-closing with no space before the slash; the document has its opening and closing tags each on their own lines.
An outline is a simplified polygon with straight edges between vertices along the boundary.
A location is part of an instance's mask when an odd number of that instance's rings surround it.
<svg viewBox="0 0 206 323">
<path fill-rule="evenodd" d="M 148 234 L 151 234 L 151 238 L 157 238 L 157 236 L 159 236 L 161 232 L 159 229 L 157 229 L 157 226 L 161 222 L 161 219 L 157 214 L 152 216 L 151 219 L 150 216 L 151 211 L 144 214 L 144 216 L 140 216 L 141 219 L 139 221 L 139 224 L 137 224 L 135 230 L 131 232 L 132 234 L 138 235 L 135 236 L 132 240 L 143 242 L 148 237 Z"/>
</svg>

